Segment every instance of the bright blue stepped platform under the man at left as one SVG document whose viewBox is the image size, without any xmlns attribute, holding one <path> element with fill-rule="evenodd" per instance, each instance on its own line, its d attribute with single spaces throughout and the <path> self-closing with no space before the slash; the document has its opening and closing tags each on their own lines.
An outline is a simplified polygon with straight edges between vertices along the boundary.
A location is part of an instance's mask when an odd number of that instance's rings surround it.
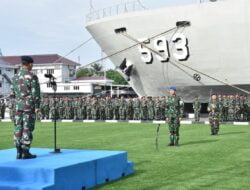
<svg viewBox="0 0 250 190">
<path fill-rule="evenodd" d="M 16 160 L 16 150 L 0 151 L 0 190 L 83 190 L 133 173 L 124 151 L 32 148 L 38 157 Z"/>
</svg>

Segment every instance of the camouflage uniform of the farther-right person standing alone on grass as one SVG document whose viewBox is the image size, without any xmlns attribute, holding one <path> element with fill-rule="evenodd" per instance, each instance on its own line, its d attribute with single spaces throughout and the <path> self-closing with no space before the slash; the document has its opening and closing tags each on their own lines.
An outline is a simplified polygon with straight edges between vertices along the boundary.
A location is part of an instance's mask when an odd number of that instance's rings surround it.
<svg viewBox="0 0 250 190">
<path fill-rule="evenodd" d="M 211 135 L 217 135 L 220 127 L 220 110 L 216 100 L 212 100 L 207 108 L 209 112 L 209 123 L 211 126 Z"/>
</svg>

